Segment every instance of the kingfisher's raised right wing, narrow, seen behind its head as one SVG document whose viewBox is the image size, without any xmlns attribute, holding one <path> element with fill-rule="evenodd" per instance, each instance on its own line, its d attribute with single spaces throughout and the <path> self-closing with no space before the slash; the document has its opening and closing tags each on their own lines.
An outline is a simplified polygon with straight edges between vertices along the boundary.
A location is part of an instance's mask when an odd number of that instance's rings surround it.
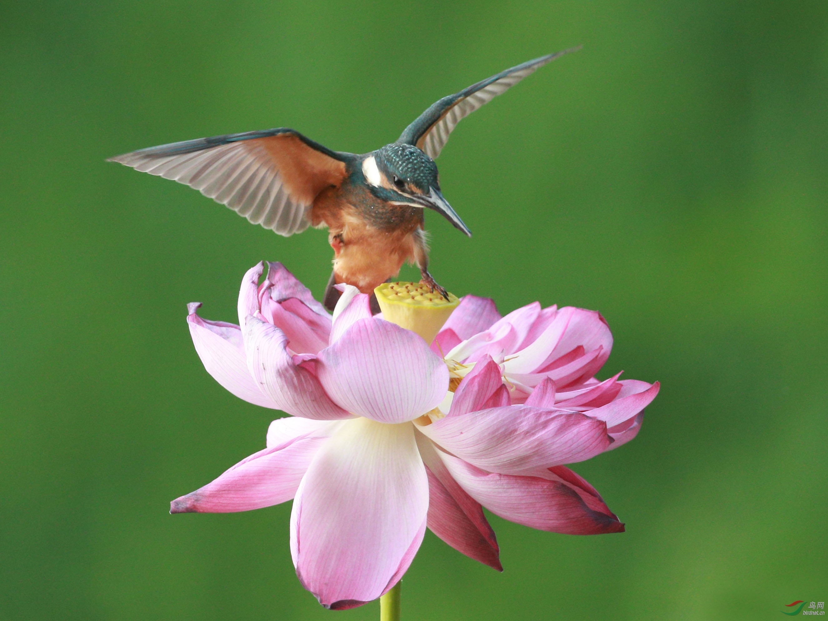
<svg viewBox="0 0 828 621">
<path fill-rule="evenodd" d="M 431 105 L 426 112 L 416 118 L 414 123 L 405 128 L 397 142 L 412 144 L 426 152 L 426 155 L 436 160 L 440 151 L 449 140 L 449 134 L 456 127 L 460 120 L 469 116 L 474 110 L 480 108 L 484 103 L 489 103 L 504 91 L 512 88 L 527 75 L 533 73 L 538 67 L 555 60 L 571 51 L 580 50 L 580 47 L 573 47 L 569 50 L 559 51 L 555 54 L 541 56 L 535 60 L 529 60 L 522 65 L 501 71 L 482 82 L 472 84 L 468 89 L 460 93 L 448 95 L 440 101 Z"/>
</svg>

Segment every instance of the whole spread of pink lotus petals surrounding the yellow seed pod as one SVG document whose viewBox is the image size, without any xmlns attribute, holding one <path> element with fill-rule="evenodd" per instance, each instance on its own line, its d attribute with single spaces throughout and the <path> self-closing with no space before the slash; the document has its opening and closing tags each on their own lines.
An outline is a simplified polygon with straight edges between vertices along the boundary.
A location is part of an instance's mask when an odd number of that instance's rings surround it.
<svg viewBox="0 0 828 621">
<path fill-rule="evenodd" d="M 432 349 L 372 316 L 354 287 L 342 286 L 331 317 L 281 264 L 260 285 L 262 272 L 243 279 L 239 325 L 200 318 L 198 303 L 187 320 L 224 388 L 291 416 L 272 422 L 266 449 L 171 513 L 293 498 L 296 574 L 330 609 L 390 590 L 426 526 L 502 570 L 482 507 L 551 532 L 623 531 L 565 464 L 632 439 L 658 385 L 592 377 L 612 344 L 599 315 L 530 305 L 501 319 L 492 301 L 467 296 Z"/>
</svg>

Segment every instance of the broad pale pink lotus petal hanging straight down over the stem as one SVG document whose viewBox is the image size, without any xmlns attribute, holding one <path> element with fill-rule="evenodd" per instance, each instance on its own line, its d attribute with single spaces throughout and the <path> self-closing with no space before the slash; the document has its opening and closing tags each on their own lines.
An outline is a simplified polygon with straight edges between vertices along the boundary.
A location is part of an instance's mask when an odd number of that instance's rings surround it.
<svg viewBox="0 0 828 621">
<path fill-rule="evenodd" d="M 377 599 L 421 542 L 428 478 L 411 425 L 344 421 L 318 451 L 296 492 L 291 556 L 325 607 Z"/>
</svg>

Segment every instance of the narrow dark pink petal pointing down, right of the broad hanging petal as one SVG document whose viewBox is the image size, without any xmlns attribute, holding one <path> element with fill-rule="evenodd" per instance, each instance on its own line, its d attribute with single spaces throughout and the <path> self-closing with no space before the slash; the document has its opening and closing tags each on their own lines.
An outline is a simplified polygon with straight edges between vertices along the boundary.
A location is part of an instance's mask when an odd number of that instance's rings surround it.
<svg viewBox="0 0 828 621">
<path fill-rule="evenodd" d="M 480 503 L 451 478 L 431 440 L 415 435 L 428 474 L 428 527 L 465 556 L 503 571 L 498 540 Z"/>
</svg>

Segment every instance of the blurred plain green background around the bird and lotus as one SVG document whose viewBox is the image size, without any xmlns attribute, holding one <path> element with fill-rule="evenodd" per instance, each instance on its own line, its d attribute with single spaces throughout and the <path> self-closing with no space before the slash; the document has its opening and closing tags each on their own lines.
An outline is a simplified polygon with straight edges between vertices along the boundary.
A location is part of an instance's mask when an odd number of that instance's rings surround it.
<svg viewBox="0 0 828 621">
<path fill-rule="evenodd" d="M 661 380 L 643 431 L 576 465 L 627 532 L 492 519 L 503 574 L 429 533 L 406 619 L 782 619 L 828 600 L 828 4 L 2 2 L 0 619 L 376 619 L 301 588 L 290 503 L 167 514 L 264 445 L 185 304 L 243 273 L 320 294 L 325 233 L 280 238 L 105 163 L 287 126 L 368 152 L 550 51 L 438 161 L 450 291 L 600 310 L 601 377 Z M 412 272 L 407 272 L 412 273 Z"/>
</svg>

